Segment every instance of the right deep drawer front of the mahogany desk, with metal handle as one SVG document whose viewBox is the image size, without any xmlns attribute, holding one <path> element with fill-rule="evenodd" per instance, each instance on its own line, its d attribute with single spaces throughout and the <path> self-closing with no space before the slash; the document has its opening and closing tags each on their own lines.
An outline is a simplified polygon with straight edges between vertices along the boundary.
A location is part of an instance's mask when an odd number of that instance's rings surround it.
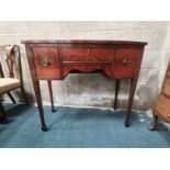
<svg viewBox="0 0 170 170">
<path fill-rule="evenodd" d="M 137 48 L 116 48 L 114 58 L 114 76 L 132 77 L 138 68 L 139 49 Z"/>
</svg>

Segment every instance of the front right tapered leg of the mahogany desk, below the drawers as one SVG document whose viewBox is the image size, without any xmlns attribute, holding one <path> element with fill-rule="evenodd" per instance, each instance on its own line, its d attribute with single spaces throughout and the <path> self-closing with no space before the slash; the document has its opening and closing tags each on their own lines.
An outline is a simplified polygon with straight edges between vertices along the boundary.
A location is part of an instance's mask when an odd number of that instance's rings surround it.
<svg viewBox="0 0 170 170">
<path fill-rule="evenodd" d="M 126 118 L 124 122 L 125 127 L 129 126 L 129 118 L 131 118 L 131 113 L 132 113 L 132 105 L 133 105 L 135 90 L 136 90 L 136 81 L 134 79 L 131 79 L 131 88 L 129 88 L 128 103 L 127 103 L 127 113 L 126 113 Z"/>
</svg>

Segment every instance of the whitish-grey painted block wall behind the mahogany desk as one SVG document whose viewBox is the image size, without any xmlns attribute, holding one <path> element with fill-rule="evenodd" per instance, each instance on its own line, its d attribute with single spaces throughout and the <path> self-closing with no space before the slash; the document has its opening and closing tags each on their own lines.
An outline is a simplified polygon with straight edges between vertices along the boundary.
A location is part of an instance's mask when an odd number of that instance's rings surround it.
<svg viewBox="0 0 170 170">
<path fill-rule="evenodd" d="M 122 39 L 148 42 L 135 94 L 134 109 L 151 107 L 170 58 L 170 22 L 0 22 L 0 45 L 19 44 L 21 39 Z M 35 102 L 24 46 L 21 45 L 24 86 L 31 102 Z M 0 60 L 4 56 L 0 49 Z M 4 66 L 4 61 L 3 66 Z M 126 106 L 128 81 L 123 81 L 120 106 Z M 43 101 L 49 104 L 46 81 L 42 81 Z M 53 81 L 55 103 L 81 106 L 112 106 L 114 81 L 102 75 L 69 75 L 64 81 Z M 22 101 L 19 90 L 15 98 Z M 9 101 L 8 97 L 4 100 Z"/>
</svg>

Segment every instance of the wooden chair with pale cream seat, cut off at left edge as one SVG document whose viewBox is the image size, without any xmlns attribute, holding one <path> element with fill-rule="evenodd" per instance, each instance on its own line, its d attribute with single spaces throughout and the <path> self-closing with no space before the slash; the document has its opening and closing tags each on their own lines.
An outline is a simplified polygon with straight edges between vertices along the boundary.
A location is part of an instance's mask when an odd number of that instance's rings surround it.
<svg viewBox="0 0 170 170">
<path fill-rule="evenodd" d="M 2 67 L 0 64 L 0 94 L 8 93 L 13 103 L 15 103 L 14 98 L 10 93 L 10 91 L 21 88 L 24 100 L 29 104 L 29 100 L 26 98 L 24 87 L 23 87 L 23 77 L 22 77 L 22 66 L 21 66 L 21 54 L 20 47 L 18 45 L 9 45 L 3 46 L 7 58 L 7 66 L 9 70 L 9 77 L 4 77 Z M 7 122 L 5 112 L 3 105 L 0 101 L 0 112 L 1 117 L 5 117 L 5 120 L 1 118 L 1 122 Z"/>
</svg>

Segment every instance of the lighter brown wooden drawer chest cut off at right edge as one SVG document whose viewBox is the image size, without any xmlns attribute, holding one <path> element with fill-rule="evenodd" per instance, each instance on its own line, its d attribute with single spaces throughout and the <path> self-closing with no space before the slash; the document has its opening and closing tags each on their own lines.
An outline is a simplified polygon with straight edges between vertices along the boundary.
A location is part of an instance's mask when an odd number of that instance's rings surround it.
<svg viewBox="0 0 170 170">
<path fill-rule="evenodd" d="M 149 125 L 150 131 L 156 129 L 158 117 L 167 123 L 170 123 L 170 63 L 165 75 L 161 91 L 152 109 L 152 115 L 154 121 Z"/>
</svg>

